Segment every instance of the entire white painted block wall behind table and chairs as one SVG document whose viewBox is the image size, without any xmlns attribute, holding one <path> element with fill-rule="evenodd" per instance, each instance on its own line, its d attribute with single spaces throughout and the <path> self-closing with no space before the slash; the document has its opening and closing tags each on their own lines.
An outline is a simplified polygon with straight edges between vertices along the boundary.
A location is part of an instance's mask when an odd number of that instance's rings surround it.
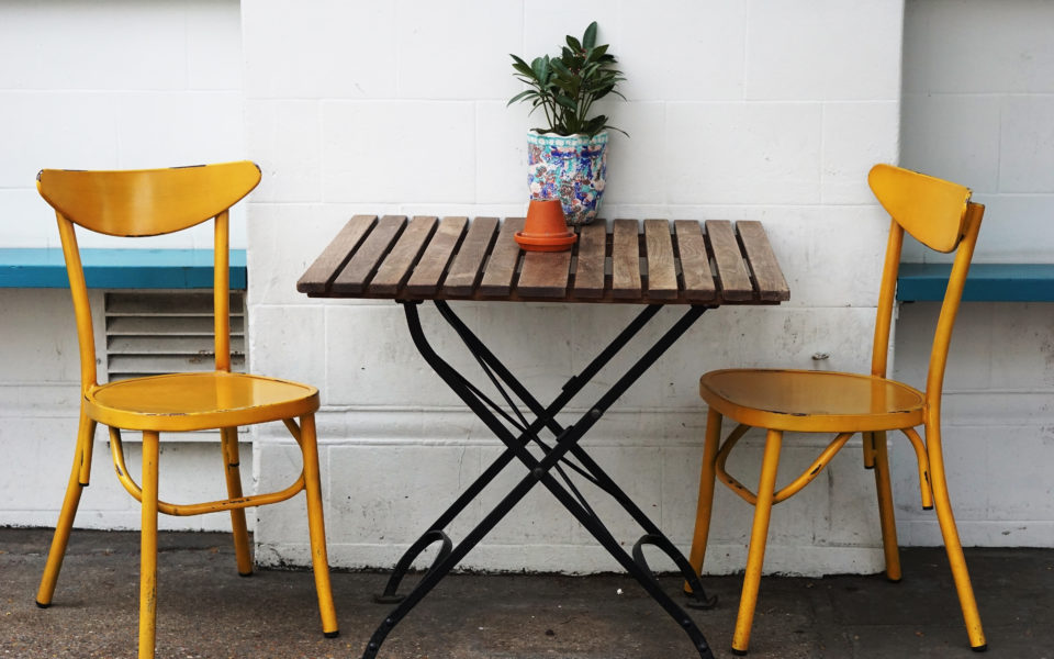
<svg viewBox="0 0 1054 659">
<path fill-rule="evenodd" d="M 33 189 L 41 167 L 260 163 L 264 182 L 249 204 L 247 237 L 253 366 L 323 392 L 334 563 L 389 566 L 494 456 L 494 440 L 416 355 L 397 308 L 321 303 L 296 293 L 294 282 L 356 212 L 522 213 L 523 136 L 534 122 L 524 107 L 505 107 L 518 89 L 507 54 L 552 49 L 597 19 L 628 77 L 628 101 L 610 102 L 606 111 L 631 135 L 613 135 L 604 215 L 762 220 L 793 291 L 778 309 L 706 314 L 590 437 L 597 459 L 686 546 L 705 421 L 695 391 L 699 373 L 738 365 L 808 368 L 814 353 L 830 354 L 834 369 L 866 369 L 868 342 L 861 337 L 872 330 L 876 244 L 887 221 L 865 174 L 875 161 L 897 160 L 899 142 L 906 164 L 971 185 L 988 204 L 980 259 L 1049 260 L 1050 8 L 1024 0 L 998 7 L 909 1 L 902 130 L 901 13 L 900 3 L 882 0 L 647 7 L 258 0 L 240 10 L 229 0 L 5 2 L 0 246 L 57 245 L 51 211 Z M 191 247 L 208 237 L 161 244 Z M 0 524 L 53 524 L 57 514 L 76 425 L 67 295 L 0 291 L 0 443 L 12 456 L 0 467 Z M 1054 538 L 1044 503 L 1050 479 L 1040 467 L 1054 439 L 1047 306 L 964 308 L 945 413 L 952 493 L 967 543 Z M 631 313 L 459 309 L 540 390 L 579 368 Z M 921 344 L 904 337 L 928 332 L 932 314 L 924 304 L 901 312 L 898 375 L 909 381 L 921 377 Z M 427 308 L 425 322 L 439 330 Z M 556 344 L 534 340 L 543 333 L 554 334 Z M 449 338 L 437 345 L 453 351 L 457 364 L 468 362 Z M 599 391 L 588 388 L 571 412 Z M 284 484 L 296 470 L 298 451 L 282 433 L 267 427 L 256 435 L 254 478 L 261 488 Z M 752 478 L 759 446 L 745 444 L 731 467 Z M 218 467 L 205 447 L 169 450 L 172 462 L 176 454 L 187 460 L 188 473 Z M 796 442 L 786 451 L 786 474 L 816 450 L 815 442 Z M 78 524 L 135 527 L 138 514 L 110 477 L 104 443 L 97 453 Z M 935 541 L 932 516 L 917 512 L 906 446 L 894 449 L 894 460 L 901 540 Z M 846 451 L 825 483 L 780 506 L 767 569 L 881 566 L 873 485 L 859 462 L 855 450 Z M 1022 469 L 1025 478 L 1016 482 L 1031 488 L 977 484 Z M 502 483 L 516 476 L 503 476 Z M 51 493 L 43 506 L 31 494 L 37 485 Z M 496 496 L 489 492 L 472 506 L 455 535 Z M 711 532 L 708 567 L 741 569 L 751 510 L 724 491 L 717 505 L 725 514 Z M 303 518 L 300 500 L 261 511 L 259 560 L 306 563 Z M 636 539 L 624 516 L 613 513 L 610 521 L 620 538 Z M 167 523 L 226 527 L 222 515 Z M 615 568 L 542 492 L 467 565 Z"/>
</svg>

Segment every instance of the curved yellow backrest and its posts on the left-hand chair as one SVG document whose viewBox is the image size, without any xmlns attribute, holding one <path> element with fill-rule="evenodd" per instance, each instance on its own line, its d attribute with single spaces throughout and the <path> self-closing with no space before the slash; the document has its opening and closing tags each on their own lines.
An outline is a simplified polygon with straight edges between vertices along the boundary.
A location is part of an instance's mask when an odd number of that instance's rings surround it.
<svg viewBox="0 0 1054 659">
<path fill-rule="evenodd" d="M 74 225 L 113 236 L 173 233 L 215 219 L 214 316 L 216 370 L 231 370 L 228 209 L 260 182 L 256 164 L 77 171 L 43 169 L 36 189 L 55 209 L 69 275 L 80 345 L 81 388 L 98 384 L 94 331 Z"/>
</svg>

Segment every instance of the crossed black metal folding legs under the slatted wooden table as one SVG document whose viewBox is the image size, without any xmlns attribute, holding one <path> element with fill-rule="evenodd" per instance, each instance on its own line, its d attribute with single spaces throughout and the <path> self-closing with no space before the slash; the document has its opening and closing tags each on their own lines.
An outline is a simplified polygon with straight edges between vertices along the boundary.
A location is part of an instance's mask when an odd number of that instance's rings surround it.
<svg viewBox="0 0 1054 659">
<path fill-rule="evenodd" d="M 482 354 L 483 360 L 481 366 L 484 369 L 491 368 L 497 371 L 498 376 L 514 390 L 517 396 L 524 401 L 531 411 L 536 414 L 536 420 L 531 424 L 526 424 L 524 420 L 522 427 L 522 433 L 519 436 L 513 435 L 509 432 L 501 420 L 498 414 L 504 416 L 506 420 L 509 420 L 515 425 L 515 420 L 512 420 L 507 414 L 497 409 L 495 404 L 486 400 L 486 398 L 468 382 L 463 376 L 461 376 L 457 370 L 455 370 L 450 365 L 444 361 L 428 345 L 427 340 L 424 337 L 423 330 L 421 327 L 421 321 L 417 315 L 416 305 L 412 303 L 404 303 L 406 311 L 407 324 L 411 330 L 411 335 L 414 339 L 415 345 L 418 350 L 422 353 L 422 356 L 428 361 L 433 369 L 447 382 L 449 387 L 462 399 L 462 401 L 480 417 L 484 424 L 500 438 L 505 445 L 506 450 L 502 454 L 498 460 L 492 465 L 490 469 L 482 474 L 476 483 L 479 484 L 478 490 L 482 490 L 494 476 L 501 469 L 508 465 L 512 459 L 515 457 L 520 460 L 528 469 L 529 473 L 523 480 L 517 483 L 515 488 L 498 503 L 498 505 L 489 513 L 483 521 L 473 528 L 466 538 L 458 544 L 452 549 L 449 547 L 449 539 L 446 538 L 446 535 L 442 534 L 441 529 L 436 528 L 440 523 L 442 526 L 449 523 L 449 521 L 456 516 L 468 501 L 471 501 L 478 491 L 474 492 L 471 496 L 466 496 L 464 494 L 459 498 L 458 502 L 455 503 L 444 515 L 437 520 L 437 524 L 429 528 L 425 535 L 422 536 L 407 550 L 403 559 L 400 561 L 401 572 L 405 573 L 405 570 L 408 569 L 408 563 L 412 562 L 413 558 L 424 549 L 425 546 L 435 541 L 436 539 L 445 539 L 445 549 L 440 551 L 440 555 L 437 557 L 431 569 L 422 578 L 417 585 L 411 591 L 411 593 L 393 610 L 389 616 L 382 622 L 382 624 L 374 632 L 373 636 L 370 639 L 369 645 L 366 648 L 363 654 L 363 659 L 372 659 L 377 656 L 378 650 L 380 649 L 381 644 L 384 638 L 391 632 L 391 629 L 455 567 L 457 563 L 497 524 L 515 505 L 529 492 L 529 490 L 538 482 L 541 482 L 547 490 L 552 492 L 552 494 L 571 512 L 580 523 L 585 526 L 590 533 L 604 546 L 616 560 L 629 572 L 637 581 L 641 584 L 642 588 L 654 599 L 671 617 L 676 621 L 676 623 L 685 630 L 688 637 L 692 639 L 693 645 L 696 647 L 699 652 L 700 658 L 708 659 L 713 657 L 710 650 L 706 644 L 703 634 L 696 627 L 695 623 L 689 616 L 677 606 L 672 599 L 659 587 L 658 582 L 654 580 L 651 571 L 648 569 L 647 563 L 642 560 L 635 560 L 631 558 L 618 544 L 618 541 L 612 536 L 607 527 L 601 522 L 601 520 L 588 509 L 588 505 L 581 498 L 581 494 L 573 488 L 573 485 L 568 481 L 569 487 L 574 490 L 575 495 L 572 495 L 567 489 L 564 489 L 559 481 L 550 473 L 550 470 L 558 468 L 558 465 L 561 460 L 565 460 L 569 453 L 574 453 L 576 457 L 585 465 L 585 470 L 576 468 L 580 473 L 586 473 L 592 476 L 591 480 L 602 487 L 605 491 L 612 494 L 616 501 L 628 511 L 630 514 L 641 523 L 641 526 L 648 532 L 646 538 L 651 538 L 651 544 L 655 544 L 662 548 L 666 554 L 670 554 L 671 558 L 677 562 L 679 568 L 683 569 L 682 562 L 687 565 L 687 561 L 684 560 L 683 556 L 680 555 L 672 543 L 670 543 L 665 536 L 658 530 L 658 528 L 652 524 L 647 516 L 632 503 L 632 501 L 625 494 L 614 481 L 595 463 L 592 459 L 588 459 L 588 456 L 585 454 L 581 447 L 579 447 L 579 440 L 585 435 L 585 433 L 601 418 L 604 412 L 640 376 L 652 365 L 654 361 L 706 311 L 703 306 L 693 306 L 689 311 L 682 317 L 672 328 L 670 328 L 663 336 L 640 358 L 637 362 L 633 364 L 630 369 L 618 379 L 618 381 L 612 386 L 612 388 L 593 405 L 574 425 L 568 428 L 562 428 L 560 424 L 554 421 L 554 415 L 567 404 L 568 401 L 584 386 L 588 379 L 595 375 L 599 368 L 606 365 L 614 356 L 617 354 L 623 346 L 636 334 L 640 327 L 643 326 L 658 311 L 658 306 L 651 306 L 646 310 L 644 313 L 640 314 L 630 325 L 624 330 L 624 332 L 608 345 L 602 354 L 594 359 L 594 361 L 587 367 L 579 378 L 572 378 L 564 386 L 563 392 L 553 401 L 547 409 L 542 409 L 540 403 L 530 396 L 529 392 L 519 384 L 515 378 L 512 377 L 512 373 L 501 365 L 501 361 L 493 356 L 482 345 L 474 335 L 471 335 L 468 332 L 468 328 L 463 326 L 463 323 L 452 313 L 452 311 L 441 302 L 437 302 L 440 312 L 447 319 L 451 325 L 458 331 L 458 334 L 461 338 L 469 345 L 470 349 L 474 354 Z M 455 319 L 455 320 L 451 320 Z M 491 375 L 487 371 L 487 375 Z M 586 377 L 587 376 L 587 377 Z M 492 380 L 494 378 L 492 377 Z M 498 384 L 495 381 L 495 384 Z M 498 384 L 498 387 L 501 387 Z M 512 404 L 512 400 L 505 395 L 506 401 Z M 489 409 L 487 405 L 491 407 Z M 498 414 L 496 414 L 497 412 Z M 518 412 L 517 412 L 518 414 Z M 519 415 L 523 420 L 523 415 Z M 557 435 L 557 442 L 553 447 L 549 447 L 540 442 L 537 437 L 537 432 L 541 427 L 547 427 Z M 545 450 L 545 456 L 539 460 L 534 455 L 527 450 L 527 444 L 530 442 L 536 442 Z M 493 473 L 491 473 L 493 471 Z M 484 478 L 487 477 L 487 478 Z M 578 499 L 575 498 L 578 496 Z M 463 501 L 462 501 L 463 500 Z M 654 533 L 652 533 L 652 530 Z M 642 538 L 641 541 L 643 541 Z M 635 548 L 635 551 L 639 552 L 640 543 Z M 408 558 L 407 558 L 408 557 Z M 681 560 L 677 560 L 680 557 Z M 407 565 L 403 565 L 403 563 Z M 393 574 L 393 580 L 397 585 L 397 580 L 402 578 L 402 573 Z M 694 574 L 692 574 L 694 578 Z M 697 579 L 695 579 L 696 584 L 698 584 Z M 390 585 L 391 585 L 390 581 Z M 394 588 L 390 590 L 394 591 Z M 698 591 L 702 593 L 702 585 L 698 587 Z"/>
</svg>

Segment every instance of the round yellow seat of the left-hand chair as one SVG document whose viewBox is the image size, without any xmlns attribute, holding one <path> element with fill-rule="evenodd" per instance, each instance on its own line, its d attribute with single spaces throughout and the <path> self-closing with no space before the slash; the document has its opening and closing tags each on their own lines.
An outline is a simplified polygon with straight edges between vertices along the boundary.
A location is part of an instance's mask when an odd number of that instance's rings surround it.
<svg viewBox="0 0 1054 659">
<path fill-rule="evenodd" d="M 292 418 L 317 409 L 314 387 L 224 371 L 119 380 L 85 394 L 90 418 L 130 431 L 232 427 Z"/>
</svg>

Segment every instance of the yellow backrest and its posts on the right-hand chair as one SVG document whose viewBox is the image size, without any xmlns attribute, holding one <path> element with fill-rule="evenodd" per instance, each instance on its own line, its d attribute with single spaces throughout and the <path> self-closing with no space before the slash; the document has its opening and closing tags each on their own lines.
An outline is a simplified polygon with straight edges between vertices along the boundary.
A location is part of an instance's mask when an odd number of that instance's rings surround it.
<svg viewBox="0 0 1054 659">
<path fill-rule="evenodd" d="M 938 252 L 955 252 L 952 272 L 944 292 L 944 302 L 937 322 L 930 365 L 926 381 L 927 405 L 940 411 L 941 388 L 952 327 L 963 297 L 963 286 L 974 256 L 985 206 L 969 201 L 968 188 L 893 165 L 875 165 L 867 182 L 878 202 L 893 217 L 886 260 L 878 295 L 878 317 L 872 350 L 872 375 L 886 376 L 889 331 L 896 302 L 897 272 L 904 233 Z"/>
</svg>

